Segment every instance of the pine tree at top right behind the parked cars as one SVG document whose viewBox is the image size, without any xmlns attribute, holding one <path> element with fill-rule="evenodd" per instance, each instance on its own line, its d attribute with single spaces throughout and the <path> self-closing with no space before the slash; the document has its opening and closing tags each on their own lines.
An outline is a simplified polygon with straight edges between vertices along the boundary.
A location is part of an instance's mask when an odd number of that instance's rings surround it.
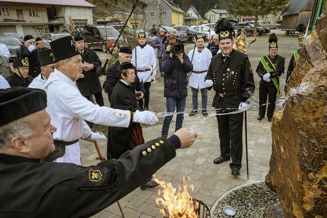
<svg viewBox="0 0 327 218">
<path fill-rule="evenodd" d="M 229 0 L 228 11 L 234 16 L 254 16 L 254 31 L 256 34 L 256 27 L 259 16 L 266 16 L 268 14 L 277 14 L 287 10 L 289 7 L 289 0 Z"/>
</svg>

